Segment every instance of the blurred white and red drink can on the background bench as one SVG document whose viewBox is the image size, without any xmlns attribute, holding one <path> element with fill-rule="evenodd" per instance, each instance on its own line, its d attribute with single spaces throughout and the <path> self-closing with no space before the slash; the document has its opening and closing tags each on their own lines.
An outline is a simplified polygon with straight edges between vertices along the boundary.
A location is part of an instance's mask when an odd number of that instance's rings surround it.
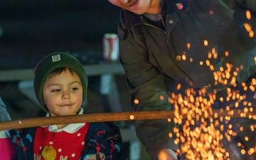
<svg viewBox="0 0 256 160">
<path fill-rule="evenodd" d="M 103 37 L 103 58 L 116 61 L 119 58 L 119 38 L 117 34 L 106 33 Z"/>
</svg>

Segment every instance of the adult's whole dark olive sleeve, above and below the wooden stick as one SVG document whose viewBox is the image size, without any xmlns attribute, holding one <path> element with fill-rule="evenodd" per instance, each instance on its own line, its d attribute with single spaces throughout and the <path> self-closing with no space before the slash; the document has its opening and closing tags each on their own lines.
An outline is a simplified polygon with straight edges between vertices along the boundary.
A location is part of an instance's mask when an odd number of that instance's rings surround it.
<svg viewBox="0 0 256 160">
<path fill-rule="evenodd" d="M 144 36 L 139 28 L 128 33 L 119 26 L 120 60 L 127 75 L 127 85 L 134 111 L 171 110 L 169 95 L 161 70 L 149 62 L 144 46 Z M 122 38 L 124 36 L 124 38 Z M 162 149 L 177 149 L 175 137 L 169 138 L 174 122 L 164 120 L 140 120 L 135 122 L 137 137 L 146 147 L 151 159 L 156 159 Z"/>
</svg>

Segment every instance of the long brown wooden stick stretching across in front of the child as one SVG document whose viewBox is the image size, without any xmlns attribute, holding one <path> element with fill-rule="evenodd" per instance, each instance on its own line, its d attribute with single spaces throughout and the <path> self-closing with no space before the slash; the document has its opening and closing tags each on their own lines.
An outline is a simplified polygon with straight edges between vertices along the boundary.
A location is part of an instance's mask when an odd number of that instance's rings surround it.
<svg viewBox="0 0 256 160">
<path fill-rule="evenodd" d="M 233 110 L 230 115 L 232 118 L 241 118 L 242 110 Z M 213 110 L 215 118 L 225 117 L 230 112 L 225 110 Z M 243 114 L 243 118 L 248 118 L 249 115 L 255 115 L 256 112 L 249 112 Z M 36 117 L 29 119 L 17 119 L 12 121 L 0 122 L 0 131 L 6 129 L 22 129 L 28 127 L 46 126 L 52 124 L 71 124 L 71 123 L 84 123 L 84 122 L 114 122 L 114 121 L 132 121 L 142 119 L 168 119 L 174 118 L 173 110 L 161 111 L 138 111 L 138 112 L 107 112 L 107 113 L 91 113 L 68 115 L 59 117 Z"/>
</svg>

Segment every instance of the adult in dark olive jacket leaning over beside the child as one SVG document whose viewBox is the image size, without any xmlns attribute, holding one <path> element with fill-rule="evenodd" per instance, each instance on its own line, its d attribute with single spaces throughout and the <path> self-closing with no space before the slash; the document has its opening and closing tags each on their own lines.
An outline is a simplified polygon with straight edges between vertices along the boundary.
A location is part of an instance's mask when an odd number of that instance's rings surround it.
<svg viewBox="0 0 256 160">
<path fill-rule="evenodd" d="M 254 78 L 256 1 L 108 1 L 122 8 L 120 60 L 135 111 L 173 110 L 169 93 L 178 94 L 186 88 L 217 92 L 213 106 L 225 108 L 235 103 L 220 101 L 220 97 L 225 100 L 226 89 L 242 87 L 231 85 L 228 77 L 215 84 L 213 73 L 224 68 L 235 74 L 239 86 L 242 82 L 249 85 Z M 209 57 L 209 53 L 217 56 Z M 178 84 L 180 90 L 176 90 Z M 247 100 L 253 100 L 252 90 L 247 90 Z M 174 125 L 161 120 L 136 122 L 137 137 L 151 159 L 177 159 L 175 137 L 166 136 Z"/>
</svg>

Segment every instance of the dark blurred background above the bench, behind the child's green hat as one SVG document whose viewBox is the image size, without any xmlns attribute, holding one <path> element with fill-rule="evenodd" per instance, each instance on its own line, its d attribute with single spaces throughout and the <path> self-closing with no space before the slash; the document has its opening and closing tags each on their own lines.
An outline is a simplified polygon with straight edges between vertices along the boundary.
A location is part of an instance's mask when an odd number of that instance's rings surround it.
<svg viewBox="0 0 256 160">
<path fill-rule="evenodd" d="M 119 11 L 107 0 L 2 0 L 0 68 L 33 68 L 56 51 L 97 63 L 102 37 L 117 33 Z"/>
</svg>

